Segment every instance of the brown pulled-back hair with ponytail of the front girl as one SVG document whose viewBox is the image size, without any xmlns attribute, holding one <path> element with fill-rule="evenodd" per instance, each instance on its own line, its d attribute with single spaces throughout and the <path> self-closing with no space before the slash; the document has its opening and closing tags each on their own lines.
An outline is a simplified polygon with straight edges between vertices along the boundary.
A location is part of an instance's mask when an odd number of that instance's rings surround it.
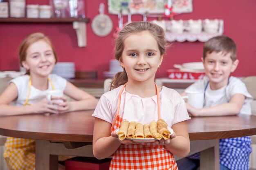
<svg viewBox="0 0 256 170">
<path fill-rule="evenodd" d="M 131 34 L 148 31 L 157 41 L 158 48 L 161 55 L 165 54 L 166 48 L 169 46 L 166 38 L 164 29 L 157 24 L 151 22 L 130 22 L 119 32 L 116 38 L 115 44 L 115 58 L 119 60 L 124 51 L 124 40 Z M 110 89 L 117 88 L 128 81 L 126 71 L 119 72 L 113 78 Z"/>
</svg>

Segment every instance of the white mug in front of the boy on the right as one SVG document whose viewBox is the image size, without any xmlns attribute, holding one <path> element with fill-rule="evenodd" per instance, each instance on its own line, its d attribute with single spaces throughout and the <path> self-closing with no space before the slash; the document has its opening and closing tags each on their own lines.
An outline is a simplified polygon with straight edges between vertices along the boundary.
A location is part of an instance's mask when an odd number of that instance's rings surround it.
<svg viewBox="0 0 256 170">
<path fill-rule="evenodd" d="M 187 103 L 193 106 L 194 108 L 203 108 L 204 106 L 204 93 L 198 91 L 186 92 L 186 96 L 182 97 L 187 99 Z"/>
</svg>

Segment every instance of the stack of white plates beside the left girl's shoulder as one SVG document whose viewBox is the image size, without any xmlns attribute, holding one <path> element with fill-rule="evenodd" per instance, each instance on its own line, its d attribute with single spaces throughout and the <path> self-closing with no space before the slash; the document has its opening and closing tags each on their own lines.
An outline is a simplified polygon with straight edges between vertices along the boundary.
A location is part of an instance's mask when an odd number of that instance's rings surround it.
<svg viewBox="0 0 256 170">
<path fill-rule="evenodd" d="M 54 66 L 52 74 L 59 75 L 65 79 L 74 78 L 75 75 L 75 64 L 74 62 L 57 62 Z"/>
</svg>

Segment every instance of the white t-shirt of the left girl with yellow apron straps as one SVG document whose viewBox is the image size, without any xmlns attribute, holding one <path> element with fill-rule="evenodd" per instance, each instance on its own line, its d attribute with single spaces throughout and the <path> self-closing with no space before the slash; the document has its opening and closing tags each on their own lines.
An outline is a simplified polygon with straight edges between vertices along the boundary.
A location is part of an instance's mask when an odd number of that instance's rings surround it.
<svg viewBox="0 0 256 170">
<path fill-rule="evenodd" d="M 54 85 L 55 89 L 58 89 L 61 91 L 65 90 L 65 87 L 67 84 L 66 79 L 55 74 L 50 74 L 49 79 L 52 81 L 52 84 Z M 20 77 L 16 77 L 12 79 L 10 82 L 13 82 L 18 89 L 18 98 L 16 101 L 11 102 L 10 105 L 14 105 L 14 106 L 24 105 L 28 95 L 29 75 L 22 75 Z M 46 92 L 50 90 L 52 90 L 52 86 L 50 83 L 48 83 L 48 89 L 46 91 L 40 91 L 39 89 L 31 86 L 31 92 L 29 95 L 28 103 L 36 104 L 40 102 L 45 97 Z"/>
</svg>

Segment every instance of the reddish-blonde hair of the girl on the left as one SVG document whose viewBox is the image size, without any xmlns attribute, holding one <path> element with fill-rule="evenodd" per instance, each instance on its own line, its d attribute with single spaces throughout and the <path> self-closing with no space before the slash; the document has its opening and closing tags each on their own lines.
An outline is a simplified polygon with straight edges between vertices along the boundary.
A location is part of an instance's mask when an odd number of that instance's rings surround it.
<svg viewBox="0 0 256 170">
<path fill-rule="evenodd" d="M 40 40 L 44 40 L 47 44 L 49 44 L 52 47 L 52 52 L 54 54 L 56 62 L 58 61 L 58 57 L 55 51 L 55 48 L 51 42 L 51 40 L 45 36 L 43 33 L 32 33 L 28 35 L 19 46 L 19 57 L 20 57 L 20 66 L 22 66 L 22 62 L 26 60 L 27 57 L 27 49 L 31 44 L 34 44 L 35 42 L 38 42 Z M 56 63 L 55 62 L 55 63 Z M 29 70 L 27 70 L 27 73 L 29 74 Z"/>
</svg>

